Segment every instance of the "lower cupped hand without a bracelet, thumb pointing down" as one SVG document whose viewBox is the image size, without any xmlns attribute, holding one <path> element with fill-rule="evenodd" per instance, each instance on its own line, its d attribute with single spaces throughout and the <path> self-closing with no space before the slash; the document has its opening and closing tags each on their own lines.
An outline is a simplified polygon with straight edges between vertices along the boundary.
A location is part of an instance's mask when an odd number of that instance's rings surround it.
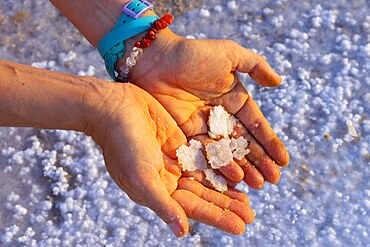
<svg viewBox="0 0 370 247">
<path fill-rule="evenodd" d="M 162 105 L 133 84 L 104 87 L 106 97 L 89 114 L 85 133 L 102 148 L 117 185 L 152 209 L 178 237 L 189 230 L 187 216 L 242 234 L 254 218 L 248 198 L 233 189 L 221 194 L 182 178 L 176 150 L 186 137 Z"/>
</svg>

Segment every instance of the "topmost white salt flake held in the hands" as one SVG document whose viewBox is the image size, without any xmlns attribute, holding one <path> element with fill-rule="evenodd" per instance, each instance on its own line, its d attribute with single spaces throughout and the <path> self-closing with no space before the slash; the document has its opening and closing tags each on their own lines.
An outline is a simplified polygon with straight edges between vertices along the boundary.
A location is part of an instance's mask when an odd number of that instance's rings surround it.
<svg viewBox="0 0 370 247">
<path fill-rule="evenodd" d="M 208 118 L 208 135 L 211 138 L 223 136 L 229 138 L 237 123 L 234 116 L 230 115 L 222 106 L 215 106 Z"/>
</svg>

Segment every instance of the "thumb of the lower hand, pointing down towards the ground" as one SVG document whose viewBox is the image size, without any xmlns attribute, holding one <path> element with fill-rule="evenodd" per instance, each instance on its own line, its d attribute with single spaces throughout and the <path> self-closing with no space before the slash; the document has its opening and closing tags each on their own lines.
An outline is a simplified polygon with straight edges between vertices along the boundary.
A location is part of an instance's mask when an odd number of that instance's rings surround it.
<svg viewBox="0 0 370 247">
<path fill-rule="evenodd" d="M 162 182 L 147 188 L 146 206 L 166 222 L 176 237 L 184 237 L 189 231 L 189 223 L 181 205 L 170 196 Z"/>
</svg>

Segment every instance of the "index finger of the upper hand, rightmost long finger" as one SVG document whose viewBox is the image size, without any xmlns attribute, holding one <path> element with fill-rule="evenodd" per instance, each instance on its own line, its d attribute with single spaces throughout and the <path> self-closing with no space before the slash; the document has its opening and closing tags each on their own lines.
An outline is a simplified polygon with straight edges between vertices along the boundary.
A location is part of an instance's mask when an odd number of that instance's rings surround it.
<svg viewBox="0 0 370 247">
<path fill-rule="evenodd" d="M 248 97 L 236 117 L 278 165 L 288 165 L 289 153 L 284 143 L 277 137 L 252 97 Z"/>
</svg>

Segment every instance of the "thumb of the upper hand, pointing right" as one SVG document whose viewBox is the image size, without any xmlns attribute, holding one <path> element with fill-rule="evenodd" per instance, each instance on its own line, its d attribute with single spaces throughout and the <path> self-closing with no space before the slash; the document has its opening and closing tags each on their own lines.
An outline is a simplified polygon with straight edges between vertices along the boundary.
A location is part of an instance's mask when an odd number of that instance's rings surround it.
<svg viewBox="0 0 370 247">
<path fill-rule="evenodd" d="M 248 73 L 261 86 L 276 87 L 281 84 L 281 77 L 262 56 L 235 42 L 231 42 L 230 49 L 234 53 L 233 62 L 237 71 Z"/>
</svg>

